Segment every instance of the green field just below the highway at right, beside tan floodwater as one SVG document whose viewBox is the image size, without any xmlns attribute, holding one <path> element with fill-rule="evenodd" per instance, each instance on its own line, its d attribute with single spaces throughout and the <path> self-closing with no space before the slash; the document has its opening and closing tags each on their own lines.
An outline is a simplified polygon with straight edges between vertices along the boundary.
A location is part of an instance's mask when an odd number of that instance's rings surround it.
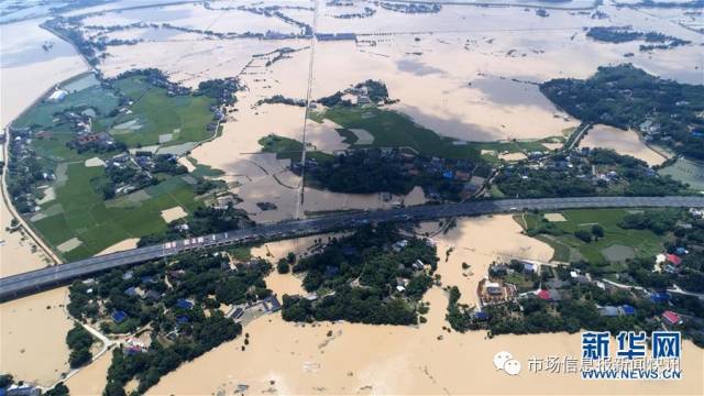
<svg viewBox="0 0 704 396">
<path fill-rule="evenodd" d="M 654 257 L 662 252 L 666 241 L 666 237 L 657 235 L 649 230 L 620 228 L 618 223 L 630 212 L 632 211 L 625 209 L 564 210 L 559 213 L 528 213 L 516 217 L 516 221 L 529 234 L 547 224 L 554 228 L 550 233 L 536 234 L 536 238 L 554 249 L 554 261 L 586 260 L 591 263 L 619 266 L 627 258 Z M 579 230 L 591 232 L 595 224 L 604 229 L 603 238 L 584 242 L 574 235 Z"/>
</svg>

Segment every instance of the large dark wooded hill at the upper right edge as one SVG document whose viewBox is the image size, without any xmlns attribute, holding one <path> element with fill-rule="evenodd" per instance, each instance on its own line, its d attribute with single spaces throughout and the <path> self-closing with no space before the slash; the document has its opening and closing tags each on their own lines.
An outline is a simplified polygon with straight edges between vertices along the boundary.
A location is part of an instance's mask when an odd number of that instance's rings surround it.
<svg viewBox="0 0 704 396">
<path fill-rule="evenodd" d="M 540 91 L 570 116 L 620 129 L 657 125 L 649 139 L 704 160 L 704 86 L 661 79 L 630 64 L 600 67 L 586 80 L 558 78 Z"/>
</svg>

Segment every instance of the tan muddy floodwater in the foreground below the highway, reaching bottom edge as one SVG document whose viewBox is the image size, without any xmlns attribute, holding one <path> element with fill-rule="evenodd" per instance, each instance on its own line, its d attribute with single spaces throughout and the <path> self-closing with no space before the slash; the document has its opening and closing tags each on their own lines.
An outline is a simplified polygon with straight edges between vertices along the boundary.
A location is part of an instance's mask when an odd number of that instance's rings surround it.
<svg viewBox="0 0 704 396">
<path fill-rule="evenodd" d="M 427 224 L 424 231 L 435 228 L 437 223 Z M 508 216 L 460 220 L 457 228 L 433 240 L 441 257 L 438 272 L 443 284 L 458 285 L 468 304 L 474 304 L 476 283 L 492 261 L 514 256 L 548 260 L 552 255 L 548 245 L 522 235 Z M 274 257 L 294 249 L 267 245 L 276 252 Z M 450 248 L 453 250 L 446 261 Z M 462 262 L 471 268 L 463 271 Z M 297 282 L 293 275 L 282 276 L 290 282 L 267 279 L 270 287 L 279 295 L 299 292 L 292 286 Z M 447 326 L 444 292 L 433 287 L 426 300 L 430 302 L 428 322 L 418 328 L 345 322 L 300 326 L 283 321 L 278 314 L 264 316 L 245 328 L 250 333 L 245 351 L 241 350 L 241 339 L 226 343 L 162 378 L 148 394 L 231 394 L 239 385 L 248 385 L 249 394 L 558 395 L 568 393 L 565 389 L 570 394 L 602 395 L 701 394 L 698 373 L 704 354 L 690 342 L 683 345 L 683 366 L 691 374 L 678 382 L 593 382 L 587 387 L 576 375 L 534 374 L 526 369 L 509 377 L 492 363 L 497 352 L 512 352 L 524 367 L 532 355 L 579 358 L 580 336 L 502 336 L 488 340 L 484 332 L 448 333 L 442 329 Z"/>
</svg>

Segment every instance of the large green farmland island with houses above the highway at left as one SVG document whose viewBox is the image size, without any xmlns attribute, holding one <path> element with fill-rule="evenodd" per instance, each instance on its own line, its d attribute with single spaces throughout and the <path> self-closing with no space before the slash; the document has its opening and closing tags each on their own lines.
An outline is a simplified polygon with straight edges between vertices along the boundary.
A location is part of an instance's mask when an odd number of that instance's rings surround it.
<svg viewBox="0 0 704 396">
<path fill-rule="evenodd" d="M 213 136 L 222 117 L 213 105 L 227 102 L 238 89 L 228 79 L 206 81 L 191 92 L 154 69 L 78 82 L 72 82 L 77 91 L 42 101 L 20 117 L 10 146 L 13 205 L 66 260 L 164 233 L 161 211 L 182 207 L 193 213 L 205 195 L 220 188 L 204 178 L 219 175 L 216 169 L 196 164 L 194 174 L 185 175 L 174 155 L 123 151 L 162 141 L 178 152 Z M 89 158 L 97 166 L 85 166 Z M 44 187 L 52 187 L 55 198 L 42 200 Z"/>
</svg>

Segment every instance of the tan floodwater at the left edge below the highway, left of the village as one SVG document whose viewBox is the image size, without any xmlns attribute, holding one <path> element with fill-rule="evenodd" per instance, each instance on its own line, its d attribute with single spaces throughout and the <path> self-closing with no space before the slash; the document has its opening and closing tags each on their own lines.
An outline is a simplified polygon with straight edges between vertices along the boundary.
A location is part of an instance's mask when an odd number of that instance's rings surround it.
<svg viewBox="0 0 704 396">
<path fill-rule="evenodd" d="M 67 294 L 62 287 L 0 304 L 0 373 L 50 386 L 69 371 Z"/>
</svg>

